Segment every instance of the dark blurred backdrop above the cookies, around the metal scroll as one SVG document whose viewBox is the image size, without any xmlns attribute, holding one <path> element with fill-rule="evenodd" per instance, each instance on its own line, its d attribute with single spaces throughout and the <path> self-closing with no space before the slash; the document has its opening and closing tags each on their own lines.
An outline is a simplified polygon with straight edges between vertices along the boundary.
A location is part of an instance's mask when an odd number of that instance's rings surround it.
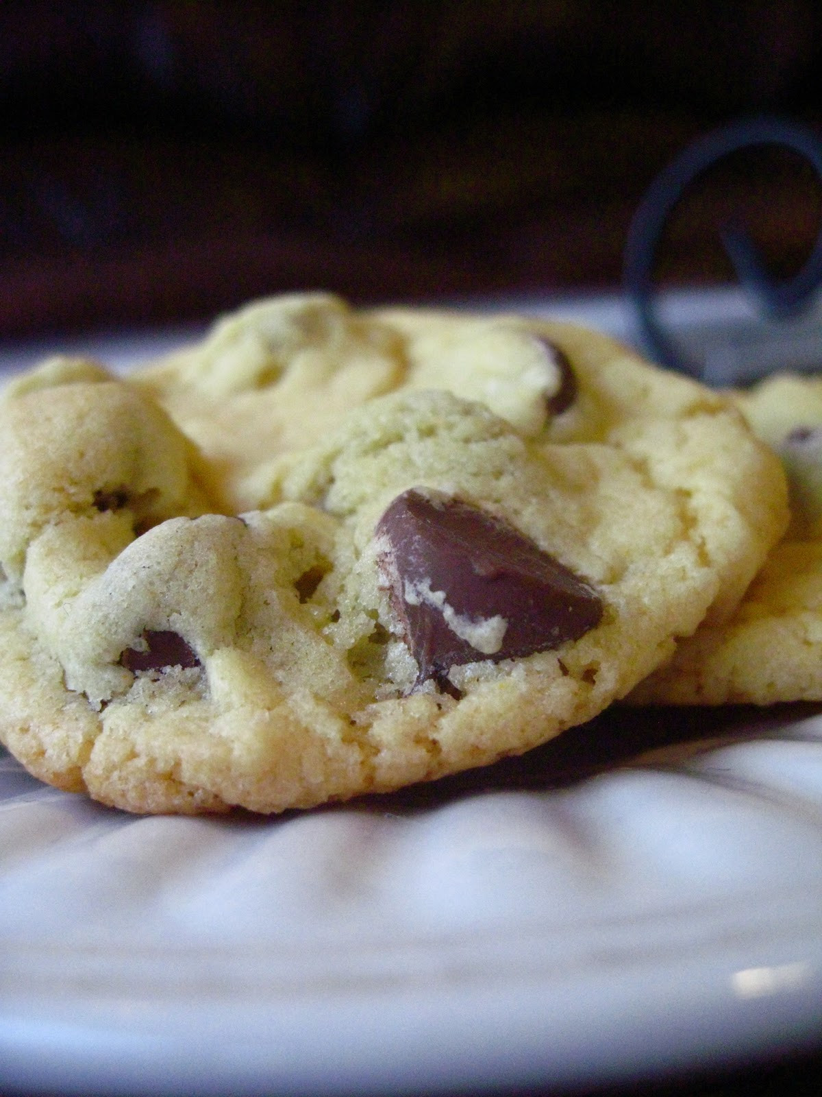
<svg viewBox="0 0 822 1097">
<path fill-rule="evenodd" d="M 355 301 L 616 286 L 630 216 L 698 134 L 822 126 L 811 0 L 0 5 L 0 335 Z M 708 173 L 664 283 L 730 276 L 729 212 L 791 273 L 820 189 Z"/>
</svg>

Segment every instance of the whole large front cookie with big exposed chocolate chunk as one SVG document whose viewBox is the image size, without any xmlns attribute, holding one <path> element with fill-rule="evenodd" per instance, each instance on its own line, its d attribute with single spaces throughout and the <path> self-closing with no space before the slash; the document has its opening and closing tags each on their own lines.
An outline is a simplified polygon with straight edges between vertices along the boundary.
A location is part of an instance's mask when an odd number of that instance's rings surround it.
<svg viewBox="0 0 822 1097">
<path fill-rule="evenodd" d="M 0 443 L 0 737 L 137 812 L 522 753 L 727 618 L 787 521 L 730 403 L 608 339 L 323 295 L 127 378 L 52 359 Z"/>
</svg>

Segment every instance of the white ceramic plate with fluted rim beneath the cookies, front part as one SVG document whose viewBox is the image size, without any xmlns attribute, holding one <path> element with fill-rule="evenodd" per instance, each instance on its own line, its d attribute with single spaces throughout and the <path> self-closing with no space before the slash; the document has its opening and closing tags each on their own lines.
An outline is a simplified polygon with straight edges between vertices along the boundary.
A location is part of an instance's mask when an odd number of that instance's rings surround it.
<svg viewBox="0 0 822 1097">
<path fill-rule="evenodd" d="M 614 711 L 274 819 L 132 817 L 0 755 L 0 1089 L 593 1085 L 820 1030 L 811 708 Z"/>
</svg>

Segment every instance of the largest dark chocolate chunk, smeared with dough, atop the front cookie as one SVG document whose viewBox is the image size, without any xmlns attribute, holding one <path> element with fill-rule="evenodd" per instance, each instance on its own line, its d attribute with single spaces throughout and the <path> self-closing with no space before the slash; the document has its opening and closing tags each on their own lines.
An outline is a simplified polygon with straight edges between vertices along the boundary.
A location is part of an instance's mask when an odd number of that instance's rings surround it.
<svg viewBox="0 0 822 1097">
<path fill-rule="evenodd" d="M 380 518 L 379 567 L 419 666 L 449 688 L 453 666 L 518 658 L 576 640 L 602 619 L 598 595 L 507 522 L 411 488 Z"/>
</svg>

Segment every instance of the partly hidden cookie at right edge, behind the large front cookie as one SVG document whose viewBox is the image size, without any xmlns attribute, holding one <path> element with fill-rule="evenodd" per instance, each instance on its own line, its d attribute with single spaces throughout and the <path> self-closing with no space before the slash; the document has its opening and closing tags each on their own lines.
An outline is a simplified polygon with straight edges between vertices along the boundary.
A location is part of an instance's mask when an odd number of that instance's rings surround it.
<svg viewBox="0 0 822 1097">
<path fill-rule="evenodd" d="M 632 703 L 822 700 L 822 380 L 778 374 L 734 398 L 784 462 L 790 525 L 730 620 L 683 641 Z"/>
</svg>

